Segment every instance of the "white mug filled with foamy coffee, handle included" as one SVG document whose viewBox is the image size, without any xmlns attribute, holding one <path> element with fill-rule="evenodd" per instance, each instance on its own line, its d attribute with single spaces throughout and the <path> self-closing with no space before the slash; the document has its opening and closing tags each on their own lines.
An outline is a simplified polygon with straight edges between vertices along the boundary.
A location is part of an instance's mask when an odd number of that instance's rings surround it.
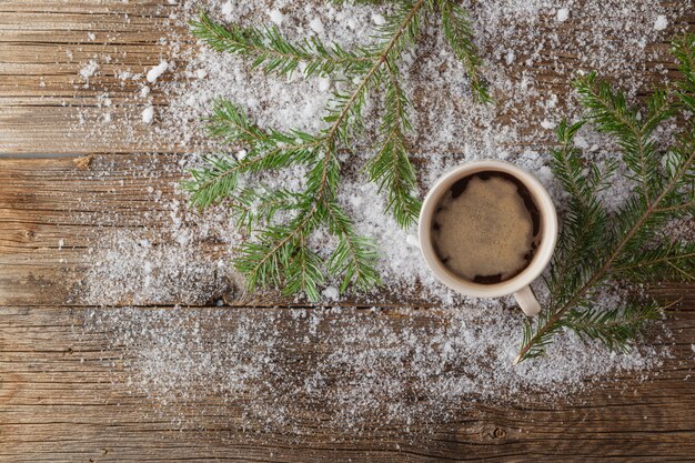
<svg viewBox="0 0 695 463">
<path fill-rule="evenodd" d="M 474 298 L 513 294 L 528 316 L 541 311 L 530 288 L 557 241 L 557 214 L 528 172 L 504 161 L 467 162 L 427 193 L 419 223 L 427 266 Z"/>
</svg>

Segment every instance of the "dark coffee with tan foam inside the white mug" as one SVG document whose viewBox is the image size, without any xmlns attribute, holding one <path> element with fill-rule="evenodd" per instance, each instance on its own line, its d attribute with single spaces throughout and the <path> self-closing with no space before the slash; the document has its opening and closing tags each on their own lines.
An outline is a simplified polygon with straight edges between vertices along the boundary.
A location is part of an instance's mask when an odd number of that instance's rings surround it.
<svg viewBox="0 0 695 463">
<path fill-rule="evenodd" d="M 492 284 L 528 266 L 538 229 L 538 210 L 523 183 L 488 171 L 469 175 L 444 193 L 433 217 L 432 239 L 450 271 Z"/>
</svg>

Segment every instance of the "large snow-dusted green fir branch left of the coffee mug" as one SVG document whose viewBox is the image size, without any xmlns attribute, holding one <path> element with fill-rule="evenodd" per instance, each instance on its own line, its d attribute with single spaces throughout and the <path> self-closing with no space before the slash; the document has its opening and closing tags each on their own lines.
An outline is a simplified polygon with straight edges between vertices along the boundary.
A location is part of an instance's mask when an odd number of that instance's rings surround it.
<svg viewBox="0 0 695 463">
<path fill-rule="evenodd" d="M 315 37 L 291 41 L 275 27 L 222 26 L 205 13 L 191 22 L 191 32 L 204 44 L 244 57 L 251 67 L 269 76 L 301 71 L 305 78 L 330 76 L 341 83 L 324 110 L 324 128 L 316 133 L 262 129 L 234 102 L 220 99 L 213 104 L 209 135 L 243 147 L 246 155 L 205 158 L 202 167 L 191 170 L 183 188 L 194 207 L 224 205 L 235 215 L 240 229 L 250 233 L 238 249 L 234 265 L 251 289 L 280 286 L 288 295 L 304 294 L 315 301 L 320 284 L 329 279 L 341 281 L 341 292 L 380 283 L 377 250 L 372 240 L 355 232 L 341 205 L 339 153 L 350 152 L 363 132 L 367 99 L 383 100 L 373 158 L 362 171 L 386 197 L 385 212 L 400 227 L 416 222 L 421 202 L 406 139 L 412 132 L 412 105 L 403 89 L 400 62 L 403 52 L 421 36 L 423 21 L 441 17 L 443 33 L 470 77 L 474 99 L 492 101 L 481 78 L 482 60 L 471 22 L 457 2 L 404 0 L 391 4 L 391 9 L 385 22 L 376 28 L 375 42 L 354 50 L 326 44 Z M 303 191 L 240 187 L 249 175 L 296 165 L 306 171 Z M 328 258 L 321 258 L 311 244 L 312 235 L 322 231 L 336 242 Z"/>
</svg>

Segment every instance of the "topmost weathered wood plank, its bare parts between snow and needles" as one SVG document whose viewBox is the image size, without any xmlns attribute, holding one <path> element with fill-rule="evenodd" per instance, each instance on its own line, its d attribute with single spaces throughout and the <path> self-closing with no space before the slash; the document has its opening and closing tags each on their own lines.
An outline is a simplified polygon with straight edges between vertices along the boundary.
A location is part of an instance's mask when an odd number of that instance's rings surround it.
<svg viewBox="0 0 695 463">
<path fill-rule="evenodd" d="M 664 3 L 673 8 L 679 2 Z M 140 83 L 120 81 L 115 76 L 122 71 L 143 72 L 159 62 L 170 59 L 168 46 L 160 39 L 177 37 L 182 48 L 190 47 L 185 27 L 171 19 L 180 12 L 177 6 L 161 1 L 144 2 L 3 2 L 0 6 L 0 152 L 12 153 L 129 153 L 129 152 L 180 152 L 183 147 L 177 140 L 155 133 L 151 127 L 139 123 L 142 102 L 133 98 Z M 695 23 L 695 13 L 686 12 L 679 21 Z M 581 34 L 576 24 L 567 24 L 567 33 Z M 551 17 L 540 18 L 534 24 L 540 31 L 554 33 L 556 24 Z M 88 38 L 94 33 L 94 39 Z M 486 56 L 495 54 L 496 44 L 490 44 Z M 582 69 L 577 57 L 556 56 L 553 50 L 525 50 L 523 47 L 510 51 L 517 56 L 513 64 L 505 66 L 514 81 L 533 80 L 541 94 L 553 92 L 562 95 L 570 91 L 568 81 Z M 641 77 L 644 88 L 663 79 L 663 72 L 673 71 L 666 43 L 649 43 L 647 52 L 655 52 Z M 524 64 L 530 52 L 546 56 L 533 68 Z M 100 73 L 90 78 L 89 88 L 79 77 L 80 69 L 95 56 L 109 57 L 109 62 L 99 62 Z M 502 58 L 504 59 L 504 58 Z M 185 63 L 177 63 L 183 69 Z M 611 76 L 606 76 L 611 77 Z M 162 81 L 170 79 L 163 76 Z M 157 104 L 165 104 L 155 85 L 152 98 Z M 112 123 L 103 127 L 101 111 L 93 109 L 98 98 L 109 94 L 113 101 L 110 110 Z M 426 107 L 426 90 L 413 95 L 416 108 Z M 501 95 L 503 97 L 503 95 Z M 503 99 L 501 100 L 503 101 Z M 501 104 L 500 121 L 514 122 L 520 114 L 527 118 L 532 101 L 522 104 Z M 465 111 L 461 107 L 461 111 Z M 79 128 L 75 129 L 78 122 Z M 90 133 L 90 128 L 95 133 Z M 426 130 L 426 128 L 425 128 Z M 102 133 L 103 132 L 103 133 Z M 127 133 L 125 137 L 122 133 Z M 88 139 L 89 143 L 84 143 Z"/>
</svg>

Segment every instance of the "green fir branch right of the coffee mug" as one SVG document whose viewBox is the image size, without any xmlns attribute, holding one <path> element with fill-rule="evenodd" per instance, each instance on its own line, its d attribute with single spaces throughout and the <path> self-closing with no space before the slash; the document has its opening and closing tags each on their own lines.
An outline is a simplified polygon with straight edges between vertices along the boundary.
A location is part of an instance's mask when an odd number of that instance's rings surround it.
<svg viewBox="0 0 695 463">
<path fill-rule="evenodd" d="M 540 356 L 563 330 L 626 352 L 649 321 L 661 316 L 658 303 L 643 295 L 622 308 L 600 310 L 595 295 L 606 286 L 642 282 L 695 280 L 695 244 L 665 235 L 673 219 L 695 212 L 695 36 L 673 43 L 682 78 L 676 89 L 656 89 L 641 109 L 590 73 L 575 89 L 586 121 L 562 122 L 552 170 L 568 195 L 567 213 L 551 264 L 551 299 L 535 320 L 526 320 L 516 362 Z M 655 130 L 674 115 L 684 129 L 673 145 L 657 142 Z M 635 191 L 617 211 L 597 194 L 615 173 L 611 162 L 586 165 L 573 143 L 584 123 L 613 137 Z"/>
</svg>

